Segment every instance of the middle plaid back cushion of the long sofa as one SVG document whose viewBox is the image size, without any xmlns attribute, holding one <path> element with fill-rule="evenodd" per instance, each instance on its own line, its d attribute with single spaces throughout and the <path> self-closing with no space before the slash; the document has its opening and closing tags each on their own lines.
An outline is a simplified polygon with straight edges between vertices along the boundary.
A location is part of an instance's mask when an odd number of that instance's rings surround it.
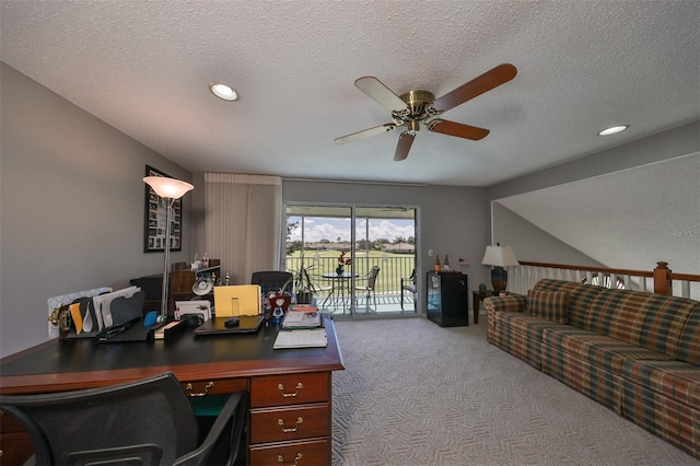
<svg viewBox="0 0 700 466">
<path fill-rule="evenodd" d="M 697 304 L 663 294 L 605 290 L 591 304 L 583 328 L 678 358 L 680 336 Z"/>
</svg>

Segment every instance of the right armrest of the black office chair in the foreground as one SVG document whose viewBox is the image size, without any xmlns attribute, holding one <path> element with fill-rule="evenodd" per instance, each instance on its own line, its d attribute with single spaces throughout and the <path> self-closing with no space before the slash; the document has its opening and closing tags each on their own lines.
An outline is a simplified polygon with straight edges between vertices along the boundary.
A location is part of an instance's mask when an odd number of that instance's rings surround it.
<svg viewBox="0 0 700 466">
<path fill-rule="evenodd" d="M 233 393 L 226 400 L 223 408 L 221 408 L 221 412 L 217 417 L 217 420 L 209 430 L 209 433 L 201 445 L 199 445 L 197 450 L 177 458 L 174 464 L 178 466 L 205 466 L 210 464 L 209 454 L 212 452 L 214 444 L 219 441 L 222 433 L 229 431 L 229 429 L 225 429 L 226 426 L 232 423 L 232 428 L 230 430 L 231 438 L 228 442 L 230 453 L 226 465 L 233 465 L 236 461 L 238 448 L 241 446 L 241 439 L 245 431 L 245 423 L 248 416 L 247 411 L 248 393 L 245 391 Z"/>
</svg>

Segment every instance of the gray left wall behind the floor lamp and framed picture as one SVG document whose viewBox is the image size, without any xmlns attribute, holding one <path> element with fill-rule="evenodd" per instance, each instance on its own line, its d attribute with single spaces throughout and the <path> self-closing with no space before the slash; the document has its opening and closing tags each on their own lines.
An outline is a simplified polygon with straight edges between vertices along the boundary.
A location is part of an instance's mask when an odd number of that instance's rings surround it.
<svg viewBox="0 0 700 466">
<path fill-rule="evenodd" d="M 0 65 L 0 356 L 47 339 L 47 299 L 158 273 L 143 253 L 145 165 L 191 174 Z M 196 188 L 197 189 L 197 188 Z M 190 257 L 189 199 L 184 244 Z"/>
</svg>

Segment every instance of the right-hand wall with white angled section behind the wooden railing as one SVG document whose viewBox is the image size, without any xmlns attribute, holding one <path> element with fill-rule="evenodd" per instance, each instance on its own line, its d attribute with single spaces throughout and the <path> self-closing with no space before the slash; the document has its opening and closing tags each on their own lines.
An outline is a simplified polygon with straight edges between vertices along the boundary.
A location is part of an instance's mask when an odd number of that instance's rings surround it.
<svg viewBox="0 0 700 466">
<path fill-rule="evenodd" d="M 700 121 L 502 183 L 487 197 L 532 223 L 518 229 L 539 228 L 604 267 L 652 270 L 664 260 L 700 273 Z M 493 235 L 511 229 L 494 222 Z M 538 241 L 523 247 L 544 253 Z M 553 251 L 530 260 L 570 264 Z"/>
</svg>

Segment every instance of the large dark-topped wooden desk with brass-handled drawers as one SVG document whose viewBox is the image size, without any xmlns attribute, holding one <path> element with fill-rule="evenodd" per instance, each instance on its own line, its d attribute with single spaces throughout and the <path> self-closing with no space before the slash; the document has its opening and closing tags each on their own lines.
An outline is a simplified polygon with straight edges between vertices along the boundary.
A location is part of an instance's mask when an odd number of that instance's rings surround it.
<svg viewBox="0 0 700 466">
<path fill-rule="evenodd" d="M 273 325 L 244 335 L 194 337 L 188 330 L 167 341 L 51 340 L 0 360 L 0 393 L 107 386 L 171 371 L 190 395 L 249 392 L 249 465 L 294 464 L 300 454 L 303 464 L 329 465 L 331 372 L 345 368 L 332 321 L 325 323 L 326 348 L 273 350 Z M 31 455 L 5 420 L 0 432 L 3 464 Z"/>
</svg>

